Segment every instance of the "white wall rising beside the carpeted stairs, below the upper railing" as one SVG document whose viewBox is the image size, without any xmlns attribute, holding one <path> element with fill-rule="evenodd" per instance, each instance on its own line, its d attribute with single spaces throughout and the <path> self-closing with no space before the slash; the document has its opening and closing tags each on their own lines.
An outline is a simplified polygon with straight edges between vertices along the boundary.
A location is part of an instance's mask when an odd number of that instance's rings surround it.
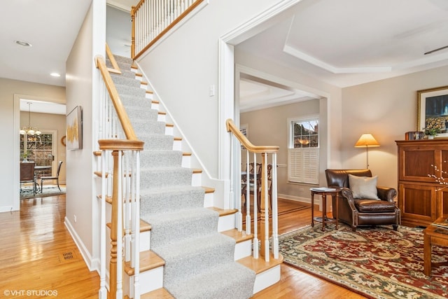
<svg viewBox="0 0 448 299">
<path fill-rule="evenodd" d="M 225 0 L 209 5 L 138 60 L 206 172 L 218 178 L 219 40 L 224 34 L 282 1 Z M 216 18 L 216 16 L 228 16 Z M 232 67 L 232 62 L 230 62 Z M 209 96 L 210 85 L 216 95 Z M 224 122 L 225 120 L 223 120 Z M 221 126 L 221 127 L 220 127 Z"/>
</svg>

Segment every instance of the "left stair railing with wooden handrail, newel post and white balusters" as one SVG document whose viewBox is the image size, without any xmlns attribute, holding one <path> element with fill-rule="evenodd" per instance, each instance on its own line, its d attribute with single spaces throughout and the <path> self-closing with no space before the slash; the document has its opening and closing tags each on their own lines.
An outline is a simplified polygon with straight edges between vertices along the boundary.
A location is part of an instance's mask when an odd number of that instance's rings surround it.
<svg viewBox="0 0 448 299">
<path fill-rule="evenodd" d="M 102 195 L 99 197 L 101 200 L 99 298 L 108 298 L 106 201 L 111 202 L 111 223 L 107 225 L 111 232 L 109 298 L 123 298 L 124 261 L 130 261 L 134 267 L 134 285 L 130 286 L 130 297 L 139 298 L 140 151 L 143 150 L 144 142 L 135 135 L 104 57 L 95 57 L 95 62 L 102 75 L 100 123 L 96 133 L 101 151 L 102 169 L 99 172 L 102 177 Z"/>
</svg>

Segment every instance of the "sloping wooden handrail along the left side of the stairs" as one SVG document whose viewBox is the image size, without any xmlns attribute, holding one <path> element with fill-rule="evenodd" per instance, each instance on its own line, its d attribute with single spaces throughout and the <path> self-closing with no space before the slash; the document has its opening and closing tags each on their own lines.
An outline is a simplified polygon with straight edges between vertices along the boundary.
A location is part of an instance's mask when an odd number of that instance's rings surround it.
<svg viewBox="0 0 448 299">
<path fill-rule="evenodd" d="M 126 138 L 130 140 L 138 140 L 134 132 L 134 128 L 131 125 L 130 119 L 125 111 L 125 107 L 120 100 L 120 96 L 118 95 L 115 84 L 113 84 L 111 74 L 109 74 L 109 70 L 106 67 L 104 57 L 102 57 L 101 55 L 97 55 L 97 57 L 95 57 L 95 63 L 103 76 L 104 83 L 106 84 L 106 88 L 109 91 L 109 95 L 111 96 L 113 106 L 115 107 L 118 119 L 120 120 L 121 126 L 123 127 Z"/>
</svg>

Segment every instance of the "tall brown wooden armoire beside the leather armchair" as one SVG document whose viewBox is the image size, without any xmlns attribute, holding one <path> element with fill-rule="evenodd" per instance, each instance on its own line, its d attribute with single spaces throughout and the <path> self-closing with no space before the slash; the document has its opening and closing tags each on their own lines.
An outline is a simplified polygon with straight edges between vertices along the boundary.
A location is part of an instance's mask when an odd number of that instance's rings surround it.
<svg viewBox="0 0 448 299">
<path fill-rule="evenodd" d="M 402 225 L 426 227 L 448 216 L 448 139 L 395 142 Z"/>
</svg>

